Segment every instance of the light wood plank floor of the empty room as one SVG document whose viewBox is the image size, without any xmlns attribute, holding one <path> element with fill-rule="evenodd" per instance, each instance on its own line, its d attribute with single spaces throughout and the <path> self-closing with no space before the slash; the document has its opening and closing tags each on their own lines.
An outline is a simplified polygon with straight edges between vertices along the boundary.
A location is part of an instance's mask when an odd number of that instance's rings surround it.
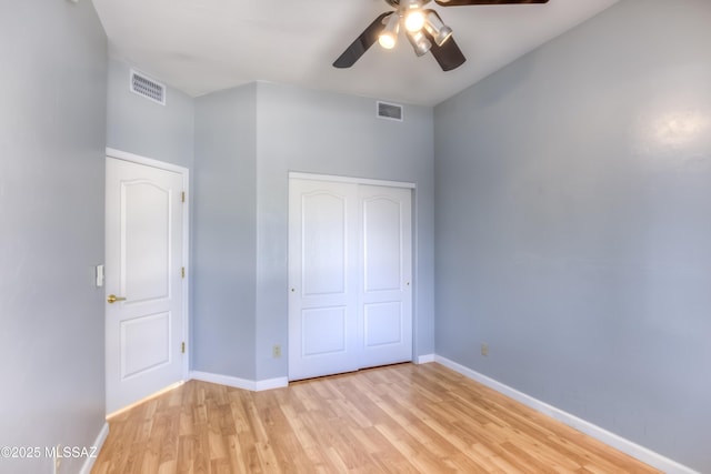
<svg viewBox="0 0 711 474">
<path fill-rule="evenodd" d="M 190 381 L 109 420 L 93 473 L 657 473 L 442 365 L 248 392 Z"/>
</svg>

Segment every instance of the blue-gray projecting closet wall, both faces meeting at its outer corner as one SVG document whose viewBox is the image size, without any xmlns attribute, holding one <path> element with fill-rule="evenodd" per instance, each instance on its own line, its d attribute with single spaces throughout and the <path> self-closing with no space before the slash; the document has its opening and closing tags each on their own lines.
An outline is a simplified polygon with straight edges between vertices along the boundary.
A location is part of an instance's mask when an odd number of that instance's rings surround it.
<svg viewBox="0 0 711 474">
<path fill-rule="evenodd" d="M 417 183 L 415 347 L 433 353 L 432 109 L 408 105 L 403 123 L 374 110 L 261 82 L 197 99 L 194 370 L 288 375 L 289 171 Z"/>
</svg>

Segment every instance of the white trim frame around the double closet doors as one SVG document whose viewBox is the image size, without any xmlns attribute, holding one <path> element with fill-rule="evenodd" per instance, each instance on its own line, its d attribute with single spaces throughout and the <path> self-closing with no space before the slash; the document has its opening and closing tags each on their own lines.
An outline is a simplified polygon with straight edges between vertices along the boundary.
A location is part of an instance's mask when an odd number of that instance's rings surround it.
<svg viewBox="0 0 711 474">
<path fill-rule="evenodd" d="M 289 171 L 288 173 L 288 182 L 291 182 L 292 179 L 300 180 L 311 180 L 311 181 L 329 181 L 329 182 L 341 182 L 341 183 L 351 183 L 351 184 L 364 184 L 364 185 L 374 185 L 374 186 L 388 186 L 388 188 L 404 188 L 414 191 L 412 195 L 412 249 L 411 249 L 411 258 L 412 258 L 412 354 L 411 361 L 418 362 L 417 353 L 418 353 L 418 305 L 417 305 L 417 288 L 418 288 L 418 230 L 417 230 L 417 184 L 407 182 L 407 181 L 389 181 L 389 180 L 377 180 L 369 178 L 353 178 L 353 177 L 342 177 L 336 174 L 319 174 L 319 173 L 306 173 L 300 171 Z M 289 324 L 291 324 L 291 312 L 289 312 Z M 291 350 L 291 347 L 289 347 Z M 288 363 L 288 362 L 287 362 Z M 289 369 L 287 367 L 287 372 Z"/>
</svg>

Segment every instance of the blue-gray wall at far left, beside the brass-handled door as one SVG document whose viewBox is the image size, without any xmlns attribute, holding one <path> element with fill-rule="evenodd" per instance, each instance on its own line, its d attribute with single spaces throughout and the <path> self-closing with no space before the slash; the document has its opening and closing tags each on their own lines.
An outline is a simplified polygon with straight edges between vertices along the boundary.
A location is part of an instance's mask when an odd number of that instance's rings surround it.
<svg viewBox="0 0 711 474">
<path fill-rule="evenodd" d="M 51 472 L 104 423 L 107 40 L 91 2 L 0 9 L 0 446 L 42 450 L 0 472 Z"/>
</svg>

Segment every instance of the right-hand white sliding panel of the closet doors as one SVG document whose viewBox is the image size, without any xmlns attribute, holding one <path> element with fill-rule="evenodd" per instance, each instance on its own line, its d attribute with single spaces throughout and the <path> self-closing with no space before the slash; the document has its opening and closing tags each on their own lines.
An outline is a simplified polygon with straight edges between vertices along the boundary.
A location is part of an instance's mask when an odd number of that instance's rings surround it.
<svg viewBox="0 0 711 474">
<path fill-rule="evenodd" d="M 412 360 L 411 190 L 359 186 L 360 366 Z"/>
</svg>

